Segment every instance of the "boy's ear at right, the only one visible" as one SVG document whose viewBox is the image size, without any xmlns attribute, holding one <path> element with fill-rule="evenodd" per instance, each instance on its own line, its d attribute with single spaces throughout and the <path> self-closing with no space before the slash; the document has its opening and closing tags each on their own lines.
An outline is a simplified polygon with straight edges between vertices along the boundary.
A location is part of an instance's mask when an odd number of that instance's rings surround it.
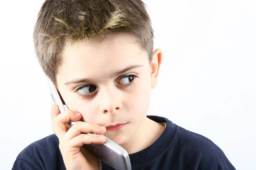
<svg viewBox="0 0 256 170">
<path fill-rule="evenodd" d="M 157 79 L 159 75 L 160 65 L 162 63 L 163 52 L 160 48 L 157 48 L 153 52 L 151 62 L 151 88 L 155 88 L 157 85 Z"/>
</svg>

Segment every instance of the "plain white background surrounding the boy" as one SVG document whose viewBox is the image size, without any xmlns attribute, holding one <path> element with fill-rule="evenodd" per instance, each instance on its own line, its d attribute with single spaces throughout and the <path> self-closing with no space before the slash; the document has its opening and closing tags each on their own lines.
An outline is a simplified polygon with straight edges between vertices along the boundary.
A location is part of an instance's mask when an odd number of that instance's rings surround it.
<svg viewBox="0 0 256 170">
<path fill-rule="evenodd" d="M 53 104 L 32 33 L 43 0 L 0 5 L 0 169 L 52 133 Z M 256 169 L 256 1 L 145 0 L 163 49 L 149 115 L 211 139 L 241 170 Z"/>
</svg>

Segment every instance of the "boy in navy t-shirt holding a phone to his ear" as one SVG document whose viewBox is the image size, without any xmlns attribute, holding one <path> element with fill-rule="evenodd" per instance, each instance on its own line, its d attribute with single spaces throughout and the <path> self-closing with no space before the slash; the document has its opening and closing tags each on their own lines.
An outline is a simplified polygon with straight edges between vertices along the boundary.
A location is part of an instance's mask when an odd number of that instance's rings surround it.
<svg viewBox="0 0 256 170">
<path fill-rule="evenodd" d="M 84 144 L 105 139 L 128 153 L 136 170 L 235 169 L 204 136 L 146 116 L 162 51 L 140 0 L 46 0 L 34 32 L 35 51 L 70 110 L 52 105 L 52 130 L 18 156 L 13 169 L 112 170 Z M 66 123 L 81 120 L 68 131 Z"/>
</svg>

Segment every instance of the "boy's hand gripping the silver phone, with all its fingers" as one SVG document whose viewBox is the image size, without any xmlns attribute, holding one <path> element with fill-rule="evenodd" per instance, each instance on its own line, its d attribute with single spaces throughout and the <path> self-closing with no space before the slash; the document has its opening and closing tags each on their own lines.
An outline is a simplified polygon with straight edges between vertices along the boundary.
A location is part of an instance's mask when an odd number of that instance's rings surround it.
<svg viewBox="0 0 256 170">
<path fill-rule="evenodd" d="M 66 123 L 81 119 L 80 113 L 67 110 L 60 114 L 58 105 L 52 105 L 52 130 L 59 139 L 59 148 L 67 170 L 101 170 L 100 160 L 86 150 L 84 144 L 102 144 L 105 138 L 90 136 L 83 133 L 99 133 L 106 131 L 105 127 L 88 123 L 76 122 L 68 131 Z"/>
</svg>

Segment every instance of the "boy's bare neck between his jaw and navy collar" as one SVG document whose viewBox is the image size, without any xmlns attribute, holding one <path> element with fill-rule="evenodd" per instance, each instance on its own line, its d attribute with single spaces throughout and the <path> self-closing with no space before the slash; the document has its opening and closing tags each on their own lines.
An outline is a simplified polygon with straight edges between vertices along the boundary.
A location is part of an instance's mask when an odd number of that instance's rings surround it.
<svg viewBox="0 0 256 170">
<path fill-rule="evenodd" d="M 139 152 L 153 144 L 163 133 L 165 125 L 145 118 L 132 138 L 121 146 L 128 154 Z"/>
</svg>

